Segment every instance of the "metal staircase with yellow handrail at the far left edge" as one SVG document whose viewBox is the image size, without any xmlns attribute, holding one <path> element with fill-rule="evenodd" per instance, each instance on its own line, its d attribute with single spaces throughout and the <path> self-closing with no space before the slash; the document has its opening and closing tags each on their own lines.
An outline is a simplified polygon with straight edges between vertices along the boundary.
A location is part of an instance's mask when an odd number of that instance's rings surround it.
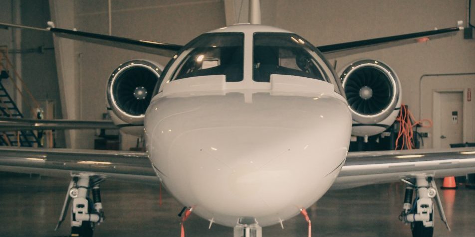
<svg viewBox="0 0 475 237">
<path fill-rule="evenodd" d="M 10 78 L 8 71 L 3 70 L 6 68 L 1 62 L 2 53 L 3 52 L 0 51 L 0 117 L 21 119 L 23 118 L 23 114 L 21 114 L 16 103 L 10 97 L 2 83 L 3 79 Z M 7 60 L 6 57 L 3 58 Z M 7 63 L 11 64 L 9 60 L 7 60 Z M 31 130 L 0 132 L 0 145 L 39 147 L 41 146 L 40 144 L 40 139 L 38 139 L 38 136 Z"/>
</svg>

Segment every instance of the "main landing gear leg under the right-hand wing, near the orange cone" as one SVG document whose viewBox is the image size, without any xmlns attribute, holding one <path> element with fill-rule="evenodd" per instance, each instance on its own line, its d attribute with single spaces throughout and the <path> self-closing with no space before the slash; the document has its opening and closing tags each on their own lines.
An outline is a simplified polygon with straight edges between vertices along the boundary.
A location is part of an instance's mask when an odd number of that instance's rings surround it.
<svg viewBox="0 0 475 237">
<path fill-rule="evenodd" d="M 433 178 L 429 176 L 418 176 L 415 179 L 415 183 L 407 180 L 402 181 L 407 185 L 404 195 L 403 212 L 399 216 L 399 219 L 405 224 L 411 224 L 412 236 L 432 237 L 434 235 L 434 198 L 436 199 L 440 217 L 450 231 L 442 207 L 441 198 Z M 416 197 L 412 200 L 414 190 L 416 190 Z"/>
</svg>

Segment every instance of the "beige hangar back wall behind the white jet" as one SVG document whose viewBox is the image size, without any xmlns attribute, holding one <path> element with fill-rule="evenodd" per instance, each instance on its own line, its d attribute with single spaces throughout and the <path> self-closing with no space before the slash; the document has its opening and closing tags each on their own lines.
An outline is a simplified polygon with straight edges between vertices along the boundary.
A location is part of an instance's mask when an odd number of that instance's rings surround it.
<svg viewBox="0 0 475 237">
<path fill-rule="evenodd" d="M 199 34 L 229 22 L 229 11 L 225 10 L 229 1 L 234 3 L 235 11 L 241 9 L 241 16 L 235 17 L 235 20 L 245 21 L 245 0 L 242 7 L 240 0 L 111 0 L 112 35 L 185 44 Z M 294 31 L 315 45 L 452 27 L 457 20 L 466 21 L 467 18 L 466 0 L 261 1 L 263 24 Z M 69 14 L 74 15 L 75 28 L 108 33 L 106 0 L 75 0 L 73 8 Z M 419 119 L 420 77 L 424 74 L 475 72 L 474 52 L 475 40 L 464 40 L 463 33 L 459 33 L 426 43 L 337 58 L 336 68 L 337 72 L 341 71 L 350 62 L 361 58 L 374 58 L 389 64 L 402 81 L 403 103 L 409 105 L 416 119 Z M 71 57 L 75 62 L 75 77 L 80 82 L 77 88 L 80 119 L 101 119 L 102 113 L 106 112 L 107 79 L 120 63 L 133 58 L 145 58 L 162 65 L 168 61 L 165 57 L 77 41 L 74 42 L 74 55 Z M 335 59 L 330 61 L 334 63 Z M 434 83 L 435 87 L 438 84 L 445 88 L 455 86 L 450 79 Z M 431 94 L 432 91 L 423 93 Z M 422 96 L 429 96 L 426 94 Z M 422 108 L 431 106 L 429 103 L 422 104 Z M 422 118 L 431 119 L 430 116 L 430 112 L 424 112 Z M 432 133 L 431 128 L 423 131 Z M 77 147 L 91 148 L 93 133 L 78 132 Z M 473 142 L 475 135 L 472 135 L 472 140 L 469 139 L 467 141 Z M 425 147 L 432 146 L 430 139 L 425 141 Z"/>
</svg>

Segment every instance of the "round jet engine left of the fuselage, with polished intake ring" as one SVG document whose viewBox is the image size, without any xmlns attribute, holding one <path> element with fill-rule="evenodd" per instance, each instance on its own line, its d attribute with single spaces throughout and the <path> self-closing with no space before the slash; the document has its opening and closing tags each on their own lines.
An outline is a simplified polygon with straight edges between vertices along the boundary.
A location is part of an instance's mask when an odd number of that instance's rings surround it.
<svg viewBox="0 0 475 237">
<path fill-rule="evenodd" d="M 112 72 L 107 83 L 107 109 L 115 124 L 143 125 L 145 111 L 162 70 L 160 64 L 135 59 L 119 65 Z"/>
</svg>

